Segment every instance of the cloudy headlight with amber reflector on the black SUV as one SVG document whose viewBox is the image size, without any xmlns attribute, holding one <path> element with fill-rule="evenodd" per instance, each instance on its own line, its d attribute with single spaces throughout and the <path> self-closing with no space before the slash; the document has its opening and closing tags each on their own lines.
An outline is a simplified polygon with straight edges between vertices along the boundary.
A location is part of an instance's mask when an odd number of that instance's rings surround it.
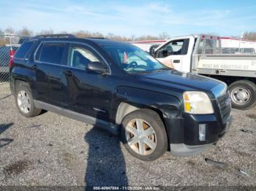
<svg viewBox="0 0 256 191">
<path fill-rule="evenodd" d="M 189 114 L 213 114 L 211 100 L 206 93 L 189 91 L 183 93 L 184 109 Z"/>
</svg>

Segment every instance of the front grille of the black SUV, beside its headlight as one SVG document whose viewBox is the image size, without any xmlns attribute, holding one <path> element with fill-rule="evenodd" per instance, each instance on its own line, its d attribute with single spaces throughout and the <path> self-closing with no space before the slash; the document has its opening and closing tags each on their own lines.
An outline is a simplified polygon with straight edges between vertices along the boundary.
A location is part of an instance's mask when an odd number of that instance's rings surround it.
<svg viewBox="0 0 256 191">
<path fill-rule="evenodd" d="M 226 123 L 228 118 L 230 117 L 230 113 L 231 113 L 230 93 L 227 91 L 227 93 L 225 93 L 225 95 L 222 95 L 221 97 L 217 98 L 217 101 L 219 103 L 220 114 L 222 116 L 222 122 Z"/>
</svg>

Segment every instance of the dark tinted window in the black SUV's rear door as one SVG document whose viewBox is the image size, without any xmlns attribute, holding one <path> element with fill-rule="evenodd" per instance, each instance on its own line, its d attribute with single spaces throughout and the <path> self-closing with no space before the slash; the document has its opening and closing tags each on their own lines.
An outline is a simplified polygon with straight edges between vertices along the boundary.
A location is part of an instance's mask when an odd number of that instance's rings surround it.
<svg viewBox="0 0 256 191">
<path fill-rule="evenodd" d="M 45 63 L 61 64 L 61 58 L 64 52 L 64 44 L 43 44 L 39 49 L 39 61 Z"/>
</svg>

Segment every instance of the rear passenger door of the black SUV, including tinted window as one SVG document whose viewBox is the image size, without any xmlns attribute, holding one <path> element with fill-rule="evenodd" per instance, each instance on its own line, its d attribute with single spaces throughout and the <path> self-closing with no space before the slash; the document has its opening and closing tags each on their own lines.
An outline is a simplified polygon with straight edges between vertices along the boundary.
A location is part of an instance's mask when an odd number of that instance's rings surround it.
<svg viewBox="0 0 256 191">
<path fill-rule="evenodd" d="M 34 67 L 39 99 L 56 106 L 62 106 L 67 98 L 65 83 L 61 80 L 64 67 L 67 66 L 65 51 L 67 51 L 67 43 L 42 42 L 35 55 Z"/>
</svg>

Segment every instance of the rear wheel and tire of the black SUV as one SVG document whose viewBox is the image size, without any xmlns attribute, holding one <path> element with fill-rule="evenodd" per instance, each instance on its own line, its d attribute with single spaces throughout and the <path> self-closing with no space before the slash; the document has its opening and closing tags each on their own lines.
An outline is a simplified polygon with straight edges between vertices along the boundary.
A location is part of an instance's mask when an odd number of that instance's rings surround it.
<svg viewBox="0 0 256 191">
<path fill-rule="evenodd" d="M 24 104 L 24 100 L 26 100 Z M 42 109 L 34 106 L 34 99 L 31 94 L 29 84 L 17 82 L 15 85 L 15 102 L 20 114 L 24 117 L 35 117 L 42 112 Z"/>
</svg>

